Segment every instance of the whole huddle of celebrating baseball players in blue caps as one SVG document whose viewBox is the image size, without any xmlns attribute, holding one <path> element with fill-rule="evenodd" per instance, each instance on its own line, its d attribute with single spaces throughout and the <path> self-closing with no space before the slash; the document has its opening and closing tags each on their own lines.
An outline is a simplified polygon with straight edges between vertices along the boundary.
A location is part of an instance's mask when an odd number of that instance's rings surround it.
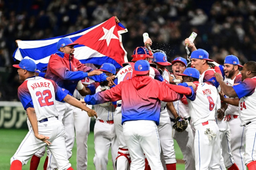
<svg viewBox="0 0 256 170">
<path fill-rule="evenodd" d="M 46 74 L 36 76 L 29 59 L 14 65 L 24 81 L 18 96 L 30 131 L 10 169 L 21 169 L 31 157 L 30 169 L 37 169 L 47 146 L 44 169 L 72 170 L 75 137 L 77 169 L 87 169 L 89 122 L 95 116 L 97 170 L 106 169 L 110 147 L 114 169 L 174 170 L 173 139 L 186 170 L 255 170 L 256 62 L 241 66 L 229 55 L 219 65 L 189 39 L 185 43 L 192 50 L 191 67 L 182 57 L 170 63 L 165 53 L 137 47 L 118 73 L 110 63 L 93 70 L 74 58 L 77 43 L 69 38 L 58 41 Z"/>
</svg>

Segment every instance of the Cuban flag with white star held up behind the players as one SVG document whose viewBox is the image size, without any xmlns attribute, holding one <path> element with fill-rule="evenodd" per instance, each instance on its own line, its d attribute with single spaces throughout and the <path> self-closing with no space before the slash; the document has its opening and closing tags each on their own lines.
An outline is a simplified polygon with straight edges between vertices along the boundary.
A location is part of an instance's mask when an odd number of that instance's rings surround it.
<svg viewBox="0 0 256 170">
<path fill-rule="evenodd" d="M 125 32 L 127 29 L 111 17 L 101 24 L 71 34 L 43 40 L 18 41 L 13 59 L 19 61 L 24 58 L 32 59 L 37 64 L 37 69 L 44 70 L 47 68 L 51 54 L 57 52 L 59 39 L 69 37 L 74 43 L 79 43 L 74 46 L 74 57 L 81 63 L 102 65 L 108 62 L 116 68 L 121 68 L 122 63 L 128 62 L 121 36 Z"/>
</svg>

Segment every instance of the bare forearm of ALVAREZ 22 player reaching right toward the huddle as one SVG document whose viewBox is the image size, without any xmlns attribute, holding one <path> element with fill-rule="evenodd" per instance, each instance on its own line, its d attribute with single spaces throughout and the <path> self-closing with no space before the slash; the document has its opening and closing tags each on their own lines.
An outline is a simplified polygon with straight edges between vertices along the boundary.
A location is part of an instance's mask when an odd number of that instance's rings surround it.
<svg viewBox="0 0 256 170">
<path fill-rule="evenodd" d="M 94 110 L 86 107 L 85 105 L 83 105 L 81 102 L 79 102 L 77 99 L 75 99 L 74 97 L 72 97 L 69 94 L 66 95 L 66 97 L 64 97 L 63 100 L 65 102 L 71 104 L 74 107 L 77 107 L 79 109 L 82 109 L 82 110 L 86 111 L 89 117 L 93 117 L 93 116 L 95 116 L 96 118 L 98 117 L 97 113 Z"/>
</svg>

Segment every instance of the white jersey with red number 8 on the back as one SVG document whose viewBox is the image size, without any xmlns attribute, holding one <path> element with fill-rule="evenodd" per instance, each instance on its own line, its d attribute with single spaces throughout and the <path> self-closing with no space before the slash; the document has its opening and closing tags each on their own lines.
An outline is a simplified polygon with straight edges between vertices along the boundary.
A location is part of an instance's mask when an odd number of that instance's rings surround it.
<svg viewBox="0 0 256 170">
<path fill-rule="evenodd" d="M 194 84 L 197 85 L 195 100 L 187 100 L 193 126 L 215 119 L 214 114 L 218 95 L 216 87 L 211 84 L 199 82 Z"/>
</svg>

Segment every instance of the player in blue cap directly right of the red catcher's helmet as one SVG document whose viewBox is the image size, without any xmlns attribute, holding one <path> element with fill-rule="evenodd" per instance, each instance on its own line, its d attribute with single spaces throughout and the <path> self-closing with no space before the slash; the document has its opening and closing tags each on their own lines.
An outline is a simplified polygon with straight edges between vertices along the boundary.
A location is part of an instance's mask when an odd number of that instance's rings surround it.
<svg viewBox="0 0 256 170">
<path fill-rule="evenodd" d="M 158 69 L 162 70 L 163 79 L 166 82 L 170 82 L 169 80 L 169 72 L 165 68 L 166 66 L 170 66 L 171 63 L 167 61 L 166 54 L 162 52 L 156 52 L 153 54 L 153 63 L 157 65 Z M 166 102 L 161 102 L 161 112 L 160 112 L 160 120 L 158 125 L 158 133 L 161 143 L 161 148 L 163 152 L 163 156 L 165 158 L 166 168 L 167 170 L 176 169 L 176 156 L 174 151 L 174 142 L 173 142 L 173 134 L 170 130 L 172 128 L 171 121 L 169 118 L 169 114 L 166 108 Z"/>
</svg>

